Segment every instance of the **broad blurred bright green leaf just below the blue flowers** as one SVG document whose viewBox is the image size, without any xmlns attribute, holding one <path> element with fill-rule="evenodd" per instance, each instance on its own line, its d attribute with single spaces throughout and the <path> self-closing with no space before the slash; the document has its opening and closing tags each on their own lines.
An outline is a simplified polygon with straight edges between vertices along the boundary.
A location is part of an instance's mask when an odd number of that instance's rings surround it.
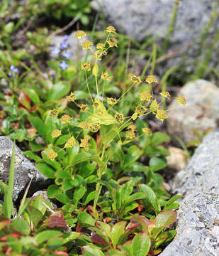
<svg viewBox="0 0 219 256">
<path fill-rule="evenodd" d="M 59 100 L 68 94 L 71 89 L 71 85 L 67 82 L 57 82 L 52 86 L 48 100 Z"/>
</svg>

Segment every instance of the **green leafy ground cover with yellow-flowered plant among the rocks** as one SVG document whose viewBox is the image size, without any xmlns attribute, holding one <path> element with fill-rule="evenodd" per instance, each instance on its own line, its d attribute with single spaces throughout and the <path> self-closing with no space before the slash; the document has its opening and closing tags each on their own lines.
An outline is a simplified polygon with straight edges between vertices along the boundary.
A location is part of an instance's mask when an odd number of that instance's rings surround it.
<svg viewBox="0 0 219 256">
<path fill-rule="evenodd" d="M 161 124 L 172 111 L 167 80 L 171 84 L 179 67 L 159 81 L 153 75 L 169 39 L 161 49 L 152 38 L 140 46 L 111 26 L 95 32 L 96 21 L 87 25 L 89 1 L 28 3 L 1 6 L 1 134 L 19 142 L 51 179 L 47 197 L 57 208 L 42 196 L 27 198 L 27 188 L 14 213 L 13 151 L 9 184 L 1 182 L 1 254 L 158 255 L 176 235 L 169 227 L 180 198 L 167 193 L 159 174 L 170 138 L 148 125 L 153 117 Z M 21 18 L 7 21 L 15 12 Z M 76 36 L 92 58 L 72 60 L 62 33 L 51 60 L 51 31 L 33 26 L 40 16 L 78 17 L 91 41 L 83 31 Z M 18 32 L 26 47 L 13 40 Z M 135 75 L 130 59 L 139 53 L 147 64 Z"/>
</svg>

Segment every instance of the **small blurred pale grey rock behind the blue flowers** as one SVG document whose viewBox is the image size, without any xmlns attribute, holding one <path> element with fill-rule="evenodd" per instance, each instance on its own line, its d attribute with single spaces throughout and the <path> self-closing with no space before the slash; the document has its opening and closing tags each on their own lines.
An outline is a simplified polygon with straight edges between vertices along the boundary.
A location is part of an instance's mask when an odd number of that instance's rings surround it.
<svg viewBox="0 0 219 256">
<path fill-rule="evenodd" d="M 62 38 L 63 36 L 54 36 L 51 40 L 50 43 L 50 50 L 53 50 L 55 47 L 60 48 L 60 43 L 62 43 Z M 83 37 L 82 39 L 78 40 L 77 37 L 75 36 L 75 32 L 71 33 L 69 35 L 69 38 L 67 40 L 67 43 L 69 43 L 69 47 L 67 48 L 67 52 L 72 54 L 71 59 L 74 61 L 82 61 L 86 57 L 87 50 L 83 50 L 81 43 L 83 41 L 89 40 L 88 37 Z M 94 48 L 92 48 L 95 50 Z M 88 60 L 91 59 L 91 52 L 88 52 Z M 55 55 L 52 55 L 51 57 L 55 58 Z"/>
</svg>

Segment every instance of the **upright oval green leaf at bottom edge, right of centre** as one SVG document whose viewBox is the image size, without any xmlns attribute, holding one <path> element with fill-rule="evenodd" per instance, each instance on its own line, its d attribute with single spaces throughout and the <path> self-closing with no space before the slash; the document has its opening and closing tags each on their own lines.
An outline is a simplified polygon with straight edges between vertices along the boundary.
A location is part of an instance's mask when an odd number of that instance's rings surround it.
<svg viewBox="0 0 219 256">
<path fill-rule="evenodd" d="M 150 238 L 146 233 L 135 235 L 133 239 L 133 256 L 145 256 L 150 250 Z"/>
</svg>

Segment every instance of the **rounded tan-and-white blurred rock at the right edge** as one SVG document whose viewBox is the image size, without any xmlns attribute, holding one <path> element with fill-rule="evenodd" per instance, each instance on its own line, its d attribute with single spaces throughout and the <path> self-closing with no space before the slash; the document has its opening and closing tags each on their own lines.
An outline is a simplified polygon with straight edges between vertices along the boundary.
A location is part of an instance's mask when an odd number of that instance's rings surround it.
<svg viewBox="0 0 219 256">
<path fill-rule="evenodd" d="M 177 135 L 185 143 L 198 139 L 193 129 L 203 134 L 216 129 L 219 120 L 219 89 L 206 80 L 189 82 L 178 93 L 186 98 L 186 106 L 176 100 L 169 106 L 174 111 L 168 113 L 167 129 L 169 134 Z"/>
</svg>

